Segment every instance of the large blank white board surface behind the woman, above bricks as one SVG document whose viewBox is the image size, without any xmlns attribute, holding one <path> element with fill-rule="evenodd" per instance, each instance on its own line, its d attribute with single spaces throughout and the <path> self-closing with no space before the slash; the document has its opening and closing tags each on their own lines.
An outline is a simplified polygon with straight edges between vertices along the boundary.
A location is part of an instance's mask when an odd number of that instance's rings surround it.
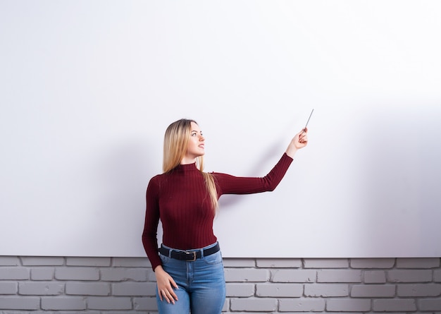
<svg viewBox="0 0 441 314">
<path fill-rule="evenodd" d="M 276 191 L 221 198 L 224 257 L 439 256 L 440 6 L 1 1 L 0 254 L 144 256 L 170 122 L 263 176 L 314 109 Z"/>
</svg>

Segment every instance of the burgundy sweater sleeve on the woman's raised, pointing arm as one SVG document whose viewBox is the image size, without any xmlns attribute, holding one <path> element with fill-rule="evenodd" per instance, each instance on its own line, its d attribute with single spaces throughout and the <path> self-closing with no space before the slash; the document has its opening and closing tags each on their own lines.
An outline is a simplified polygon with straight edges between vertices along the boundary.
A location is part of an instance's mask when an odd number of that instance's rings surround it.
<svg viewBox="0 0 441 314">
<path fill-rule="evenodd" d="M 260 178 L 213 173 L 216 177 L 218 196 L 223 194 L 251 194 L 273 191 L 282 181 L 292 160 L 291 157 L 284 153 L 273 169 L 266 176 Z"/>
</svg>

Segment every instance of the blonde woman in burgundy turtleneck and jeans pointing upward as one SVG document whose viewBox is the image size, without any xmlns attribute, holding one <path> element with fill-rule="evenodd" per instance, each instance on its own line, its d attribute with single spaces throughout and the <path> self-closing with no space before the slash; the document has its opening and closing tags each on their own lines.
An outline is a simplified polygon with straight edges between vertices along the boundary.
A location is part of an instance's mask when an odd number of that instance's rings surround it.
<svg viewBox="0 0 441 314">
<path fill-rule="evenodd" d="M 180 119 L 164 136 L 163 174 L 147 186 L 142 243 L 156 274 L 159 313 L 218 314 L 225 303 L 221 251 L 213 234 L 218 198 L 223 194 L 273 191 L 294 154 L 308 143 L 304 128 L 263 178 L 206 173 L 204 136 L 193 120 Z M 163 226 L 157 248 L 159 219 Z"/>
</svg>

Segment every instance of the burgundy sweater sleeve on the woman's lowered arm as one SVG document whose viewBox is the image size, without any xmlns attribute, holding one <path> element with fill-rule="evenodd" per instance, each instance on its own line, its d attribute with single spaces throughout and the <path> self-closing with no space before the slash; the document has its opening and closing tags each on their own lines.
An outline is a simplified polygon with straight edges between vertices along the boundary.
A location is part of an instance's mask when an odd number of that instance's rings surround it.
<svg viewBox="0 0 441 314">
<path fill-rule="evenodd" d="M 142 232 L 142 245 L 150 260 L 151 268 L 161 265 L 158 254 L 158 224 L 159 224 L 159 184 L 152 178 L 147 186 L 146 213 L 144 231 Z"/>
</svg>

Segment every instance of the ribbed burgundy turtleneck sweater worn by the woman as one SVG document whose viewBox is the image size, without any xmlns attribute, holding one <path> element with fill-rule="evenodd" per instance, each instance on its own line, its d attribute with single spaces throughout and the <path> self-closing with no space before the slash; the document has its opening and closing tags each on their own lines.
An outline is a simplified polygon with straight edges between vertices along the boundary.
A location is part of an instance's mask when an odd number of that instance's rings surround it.
<svg viewBox="0 0 441 314">
<path fill-rule="evenodd" d="M 275 167 L 261 178 L 237 177 L 213 172 L 218 198 L 223 194 L 273 191 L 290 167 L 292 158 L 283 154 Z M 204 177 L 196 164 L 180 164 L 166 174 L 151 178 L 146 193 L 142 243 L 153 269 L 161 265 L 156 232 L 163 226 L 162 243 L 170 248 L 204 248 L 217 241 L 213 234 L 214 212 Z"/>
</svg>

